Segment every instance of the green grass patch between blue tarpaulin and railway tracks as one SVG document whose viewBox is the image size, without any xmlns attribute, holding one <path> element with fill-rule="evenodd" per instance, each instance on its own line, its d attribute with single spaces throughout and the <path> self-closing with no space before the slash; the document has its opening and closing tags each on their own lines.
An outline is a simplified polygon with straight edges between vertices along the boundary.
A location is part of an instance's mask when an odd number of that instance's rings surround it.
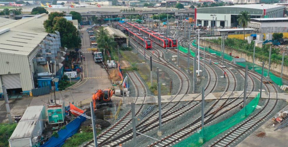
<svg viewBox="0 0 288 147">
<path fill-rule="evenodd" d="M 93 130 L 92 127 L 89 126 L 81 126 L 82 133 L 80 131 L 74 134 L 70 139 L 65 141 L 62 147 L 72 147 L 72 146 L 80 146 L 82 143 L 86 141 L 90 141 L 93 139 Z M 100 134 L 100 130 L 96 130 L 97 135 Z"/>
</svg>

